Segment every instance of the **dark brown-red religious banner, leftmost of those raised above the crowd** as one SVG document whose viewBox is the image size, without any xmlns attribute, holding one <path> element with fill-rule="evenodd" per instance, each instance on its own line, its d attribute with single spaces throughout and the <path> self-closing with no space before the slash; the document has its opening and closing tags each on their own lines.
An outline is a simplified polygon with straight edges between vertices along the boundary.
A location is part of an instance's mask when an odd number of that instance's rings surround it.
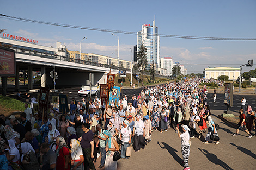
<svg viewBox="0 0 256 170">
<path fill-rule="evenodd" d="M 40 87 L 39 93 L 39 106 L 38 106 L 38 116 L 39 118 L 48 119 L 48 98 L 50 90 L 45 87 Z"/>
</svg>

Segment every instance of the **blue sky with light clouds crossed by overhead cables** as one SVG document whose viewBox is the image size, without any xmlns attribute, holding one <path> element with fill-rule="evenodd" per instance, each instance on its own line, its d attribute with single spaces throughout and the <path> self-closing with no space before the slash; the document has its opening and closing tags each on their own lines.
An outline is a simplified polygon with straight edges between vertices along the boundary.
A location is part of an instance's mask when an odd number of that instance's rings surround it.
<svg viewBox="0 0 256 170">
<path fill-rule="evenodd" d="M 256 1 L 2 1 L 1 14 L 33 20 L 137 32 L 156 15 L 159 34 L 256 38 Z M 31 37 L 40 45 L 117 57 L 117 37 L 106 32 L 48 26 L 0 17 L 6 33 Z M 136 35 L 120 37 L 120 59 L 131 60 Z M 256 41 L 190 40 L 160 37 L 160 56 L 173 56 L 188 73 L 205 67 L 256 65 Z M 113 53 L 113 54 L 112 54 Z M 216 64 L 216 65 L 212 65 Z M 223 65 L 220 65 L 223 64 Z M 252 69 L 255 69 L 255 65 Z M 248 71 L 249 67 L 243 68 Z"/>
</svg>

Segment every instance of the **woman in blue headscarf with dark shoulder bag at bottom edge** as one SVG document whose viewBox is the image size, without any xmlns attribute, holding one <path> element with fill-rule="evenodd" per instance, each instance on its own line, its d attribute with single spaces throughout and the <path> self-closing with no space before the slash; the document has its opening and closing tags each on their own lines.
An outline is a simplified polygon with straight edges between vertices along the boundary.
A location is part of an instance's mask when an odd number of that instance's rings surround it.
<svg viewBox="0 0 256 170">
<path fill-rule="evenodd" d="M 105 170 L 115 170 L 117 169 L 117 161 L 113 161 L 113 155 L 115 150 L 119 150 L 119 146 L 114 137 L 111 136 L 109 130 L 104 131 L 104 137 L 106 140 L 106 161 Z"/>
</svg>

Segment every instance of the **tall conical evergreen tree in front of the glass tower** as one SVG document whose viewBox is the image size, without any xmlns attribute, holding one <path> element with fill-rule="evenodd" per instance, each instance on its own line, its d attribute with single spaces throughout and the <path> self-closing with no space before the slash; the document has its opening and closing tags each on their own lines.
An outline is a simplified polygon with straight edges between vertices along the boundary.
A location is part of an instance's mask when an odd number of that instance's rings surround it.
<svg viewBox="0 0 256 170">
<path fill-rule="evenodd" d="M 142 43 L 141 47 L 139 47 L 139 51 L 137 54 L 137 64 L 142 72 L 142 84 L 144 81 L 144 71 L 146 70 L 148 66 L 148 60 L 147 60 L 147 48 L 144 46 L 144 43 Z"/>
</svg>

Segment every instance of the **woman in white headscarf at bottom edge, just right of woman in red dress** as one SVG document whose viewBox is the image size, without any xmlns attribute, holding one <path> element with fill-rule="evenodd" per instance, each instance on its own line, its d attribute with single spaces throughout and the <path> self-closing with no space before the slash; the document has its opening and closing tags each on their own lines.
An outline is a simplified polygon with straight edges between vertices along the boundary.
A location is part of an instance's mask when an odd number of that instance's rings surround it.
<svg viewBox="0 0 256 170">
<path fill-rule="evenodd" d="M 71 170 L 84 170 L 83 162 L 83 150 L 80 143 L 76 139 L 72 139 L 70 142 L 71 147 Z"/>
</svg>

